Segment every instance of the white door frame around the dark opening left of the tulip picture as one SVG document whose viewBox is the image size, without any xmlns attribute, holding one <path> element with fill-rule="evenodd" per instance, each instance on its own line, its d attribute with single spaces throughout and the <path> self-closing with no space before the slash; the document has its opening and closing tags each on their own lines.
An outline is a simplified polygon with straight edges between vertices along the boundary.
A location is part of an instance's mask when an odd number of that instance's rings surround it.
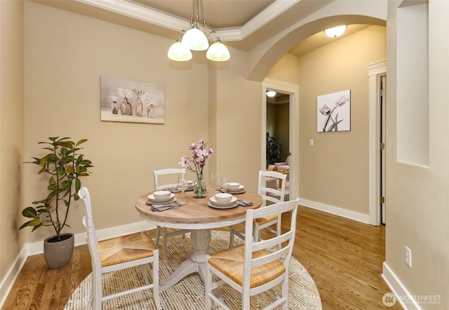
<svg viewBox="0 0 449 310">
<path fill-rule="evenodd" d="M 288 115 L 289 115 L 289 128 L 288 128 L 288 144 L 290 144 L 290 200 L 299 197 L 300 189 L 300 176 L 299 176 L 299 162 L 300 162 L 300 148 L 299 148 L 299 107 L 300 107 L 300 86 L 294 83 L 286 81 L 279 81 L 276 79 L 266 78 L 262 81 L 262 128 L 261 128 L 261 150 L 262 157 L 262 170 L 265 170 L 266 161 L 266 139 L 267 139 L 267 88 L 279 91 L 280 93 L 286 93 L 289 95 L 288 102 Z"/>
</svg>

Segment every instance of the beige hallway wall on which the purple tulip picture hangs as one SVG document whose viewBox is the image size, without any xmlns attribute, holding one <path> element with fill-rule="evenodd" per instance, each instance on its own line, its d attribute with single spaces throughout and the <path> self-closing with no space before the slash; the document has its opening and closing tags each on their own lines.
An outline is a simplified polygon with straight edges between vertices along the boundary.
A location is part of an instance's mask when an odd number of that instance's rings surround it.
<svg viewBox="0 0 449 310">
<path fill-rule="evenodd" d="M 385 59 L 385 27 L 371 26 L 299 60 L 286 55 L 269 73 L 300 86 L 300 197 L 368 215 L 367 65 Z M 317 133 L 316 96 L 348 89 L 351 130 Z"/>
</svg>

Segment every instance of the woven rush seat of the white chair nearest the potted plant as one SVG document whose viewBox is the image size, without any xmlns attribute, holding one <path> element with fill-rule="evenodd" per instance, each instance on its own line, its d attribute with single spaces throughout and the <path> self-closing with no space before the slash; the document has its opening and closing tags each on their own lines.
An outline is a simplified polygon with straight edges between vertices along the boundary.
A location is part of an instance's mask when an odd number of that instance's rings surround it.
<svg viewBox="0 0 449 310">
<path fill-rule="evenodd" d="M 102 267 L 107 267 L 152 257 L 156 246 L 152 238 L 142 232 L 100 241 L 97 249 Z"/>
</svg>

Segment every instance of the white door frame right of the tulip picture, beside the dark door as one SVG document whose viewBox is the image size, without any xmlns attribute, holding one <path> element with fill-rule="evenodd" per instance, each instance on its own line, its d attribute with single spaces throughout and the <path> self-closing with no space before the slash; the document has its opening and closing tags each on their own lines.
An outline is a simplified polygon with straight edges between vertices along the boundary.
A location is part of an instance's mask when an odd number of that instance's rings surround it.
<svg viewBox="0 0 449 310">
<path fill-rule="evenodd" d="M 380 225 L 380 76 L 387 74 L 387 61 L 368 65 L 369 116 L 368 116 L 368 205 L 369 223 Z M 385 121 L 385 120 L 384 120 Z M 385 168 L 384 168 L 385 170 Z M 383 173 L 383 175 L 385 175 Z"/>
</svg>

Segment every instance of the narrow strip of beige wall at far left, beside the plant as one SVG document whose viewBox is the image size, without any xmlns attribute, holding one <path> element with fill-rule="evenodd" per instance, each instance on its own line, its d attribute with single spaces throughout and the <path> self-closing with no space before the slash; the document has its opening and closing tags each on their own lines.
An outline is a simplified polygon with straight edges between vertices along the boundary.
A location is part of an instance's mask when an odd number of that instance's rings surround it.
<svg viewBox="0 0 449 310">
<path fill-rule="evenodd" d="M 22 8 L 21 1 L 0 1 L 0 283 L 24 244 L 23 233 L 18 233 L 23 203 Z"/>
</svg>

